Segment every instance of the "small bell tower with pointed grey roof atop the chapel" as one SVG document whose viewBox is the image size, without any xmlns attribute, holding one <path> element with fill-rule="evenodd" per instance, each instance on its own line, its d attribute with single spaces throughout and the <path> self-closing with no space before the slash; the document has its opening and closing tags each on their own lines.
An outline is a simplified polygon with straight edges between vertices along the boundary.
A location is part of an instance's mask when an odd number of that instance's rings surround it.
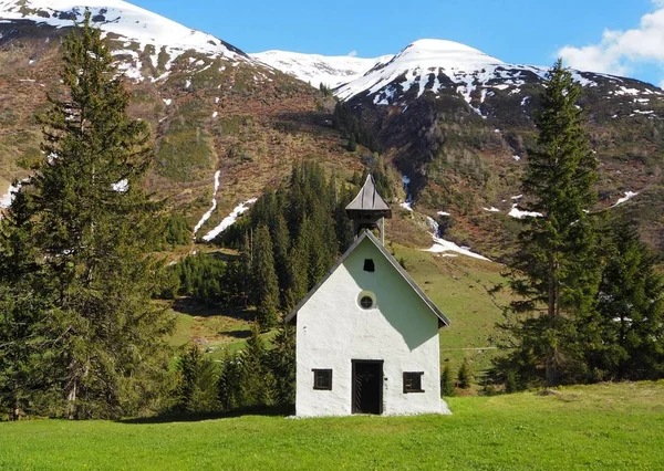
<svg viewBox="0 0 664 471">
<path fill-rule="evenodd" d="M 366 176 L 366 181 L 355 199 L 346 206 L 346 214 L 353 221 L 355 238 L 363 229 L 377 229 L 381 243 L 385 245 L 385 218 L 392 218 L 392 209 L 378 193 L 371 174 Z"/>
</svg>

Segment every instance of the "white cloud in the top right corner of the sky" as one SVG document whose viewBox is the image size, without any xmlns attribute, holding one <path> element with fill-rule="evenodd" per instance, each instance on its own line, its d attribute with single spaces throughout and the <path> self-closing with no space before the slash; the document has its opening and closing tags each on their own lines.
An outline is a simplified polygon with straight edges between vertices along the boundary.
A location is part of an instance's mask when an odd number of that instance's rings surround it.
<svg viewBox="0 0 664 471">
<path fill-rule="evenodd" d="M 639 64 L 664 67 L 664 0 L 652 0 L 655 11 L 641 18 L 639 28 L 604 30 L 596 44 L 566 45 L 558 54 L 573 69 L 627 75 Z"/>
</svg>

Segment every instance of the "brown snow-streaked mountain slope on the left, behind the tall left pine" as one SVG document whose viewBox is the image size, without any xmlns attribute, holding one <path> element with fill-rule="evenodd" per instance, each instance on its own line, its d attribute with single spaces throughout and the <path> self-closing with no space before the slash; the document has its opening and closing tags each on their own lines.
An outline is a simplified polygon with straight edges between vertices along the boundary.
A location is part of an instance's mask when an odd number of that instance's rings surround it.
<svg viewBox="0 0 664 471">
<path fill-rule="evenodd" d="M 133 95 L 131 113 L 151 124 L 151 187 L 198 236 L 279 182 L 293 161 L 361 167 L 318 111 L 319 91 L 215 36 L 117 0 L 0 0 L 2 203 L 41 157 L 33 116 L 45 109 L 46 93 L 60 90 L 59 43 L 82 19 L 81 4 L 110 41 Z"/>
</svg>

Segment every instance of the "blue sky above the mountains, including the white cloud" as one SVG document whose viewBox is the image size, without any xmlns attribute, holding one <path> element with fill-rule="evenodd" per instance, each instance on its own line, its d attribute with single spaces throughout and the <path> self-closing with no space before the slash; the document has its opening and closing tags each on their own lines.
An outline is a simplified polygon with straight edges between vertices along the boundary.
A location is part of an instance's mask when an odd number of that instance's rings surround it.
<svg viewBox="0 0 664 471">
<path fill-rule="evenodd" d="M 507 62 L 562 54 L 578 69 L 664 81 L 664 0 L 129 1 L 246 52 L 373 57 L 438 38 Z"/>
</svg>

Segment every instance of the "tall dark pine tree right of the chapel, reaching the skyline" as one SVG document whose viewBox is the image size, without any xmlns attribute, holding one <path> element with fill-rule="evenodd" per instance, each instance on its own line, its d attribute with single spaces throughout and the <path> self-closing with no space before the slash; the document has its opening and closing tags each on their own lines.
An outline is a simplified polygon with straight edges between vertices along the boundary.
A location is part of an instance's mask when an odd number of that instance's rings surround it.
<svg viewBox="0 0 664 471">
<path fill-rule="evenodd" d="M 523 219 L 510 262 L 510 285 L 521 299 L 511 304 L 520 315 L 505 325 L 511 335 L 510 355 L 523 359 L 529 352 L 548 386 L 582 376 L 583 345 L 599 341 L 596 237 L 584 212 L 596 199 L 598 161 L 575 106 L 579 94 L 571 73 L 558 61 L 547 77 L 536 118 L 538 146 L 530 151 L 523 179 L 528 210 L 542 216 Z M 526 371 L 520 374 L 525 377 Z"/>
</svg>

